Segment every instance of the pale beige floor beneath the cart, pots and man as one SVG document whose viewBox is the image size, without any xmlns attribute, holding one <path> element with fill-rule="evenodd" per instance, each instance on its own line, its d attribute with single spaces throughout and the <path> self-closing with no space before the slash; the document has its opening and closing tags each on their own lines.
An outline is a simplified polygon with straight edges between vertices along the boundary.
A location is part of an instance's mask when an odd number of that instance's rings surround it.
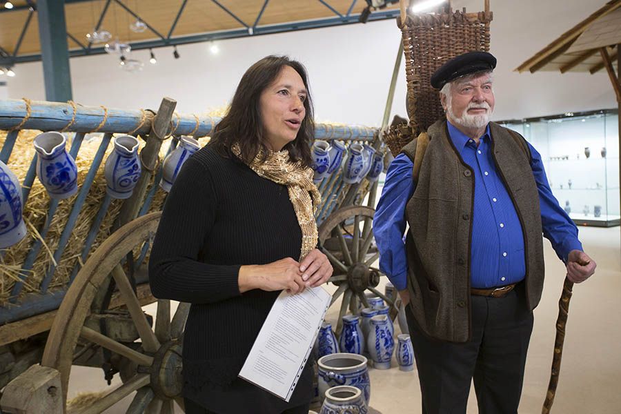
<svg viewBox="0 0 621 414">
<path fill-rule="evenodd" d="M 563 363 L 553 412 L 560 414 L 621 413 L 621 250 L 620 228 L 580 228 L 584 248 L 598 263 L 595 276 L 575 286 L 569 311 Z M 549 243 L 545 244 L 546 283 L 541 304 L 535 310 L 535 327 L 526 363 L 520 413 L 540 413 L 550 375 L 558 298 L 564 266 Z M 384 284 L 385 281 L 382 281 Z M 383 290 L 383 288 L 382 288 Z M 155 315 L 152 307 L 148 313 Z M 338 304 L 328 319 L 334 319 Z M 381 413 L 420 413 L 416 371 L 393 368 L 371 373 L 371 406 Z M 95 368 L 74 367 L 70 397 L 80 391 L 103 391 L 103 375 Z M 131 396 L 130 396 L 131 397 Z M 125 413 L 117 404 L 106 413 Z M 177 411 L 181 410 L 177 407 Z M 474 390 L 470 413 L 477 413 Z"/>
</svg>

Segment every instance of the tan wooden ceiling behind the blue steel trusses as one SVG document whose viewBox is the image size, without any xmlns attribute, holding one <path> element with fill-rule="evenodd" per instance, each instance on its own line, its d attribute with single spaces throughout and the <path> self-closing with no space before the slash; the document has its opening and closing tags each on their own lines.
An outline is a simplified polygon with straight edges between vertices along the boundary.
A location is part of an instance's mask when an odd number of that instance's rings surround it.
<svg viewBox="0 0 621 414">
<path fill-rule="evenodd" d="M 70 51 L 88 48 L 86 34 L 101 28 L 112 39 L 132 48 L 242 37 L 268 32 L 357 23 L 367 4 L 364 0 L 64 0 Z M 40 55 L 36 0 L 12 0 L 14 8 L 0 7 L 0 53 L 3 57 Z M 34 14 L 34 18 L 33 15 Z M 395 18 L 398 3 L 371 12 L 370 21 Z M 148 28 L 132 32 L 137 17 Z M 323 26 L 309 24 L 323 21 Z M 291 24 L 302 22 L 304 24 Z M 269 28 L 270 30 L 266 30 Z M 278 30 L 281 28 L 282 30 Z M 249 30 L 252 29 L 252 30 Z M 225 36 L 224 33 L 227 35 Z M 197 37 L 197 34 L 212 36 Z M 188 39 L 188 41 L 179 41 Z M 143 45 L 144 47 L 139 47 Z M 101 46 L 101 45 L 99 45 Z M 91 48 L 88 48 L 91 50 Z M 92 49 L 95 49 L 93 46 Z M 16 53 L 17 52 L 17 53 Z M 83 53 L 85 55 L 91 52 Z M 72 53 L 75 56 L 76 53 Z M 37 59 L 39 60 L 39 59 Z"/>
</svg>

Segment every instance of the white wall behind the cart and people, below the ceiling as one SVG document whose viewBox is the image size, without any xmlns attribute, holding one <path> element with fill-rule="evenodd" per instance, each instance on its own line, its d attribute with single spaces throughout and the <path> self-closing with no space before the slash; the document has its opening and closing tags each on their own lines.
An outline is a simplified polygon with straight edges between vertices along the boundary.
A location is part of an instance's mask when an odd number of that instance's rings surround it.
<svg viewBox="0 0 621 414">
<path fill-rule="evenodd" d="M 311 0 L 307 0 L 311 1 Z M 494 0 L 491 52 L 495 71 L 495 119 L 517 119 L 615 108 L 604 70 L 596 75 L 513 72 L 523 61 L 600 8 L 606 0 Z M 454 0 L 474 12 L 483 0 Z M 114 108 L 157 108 L 161 97 L 177 99 L 177 110 L 201 113 L 224 106 L 244 70 L 269 54 L 290 55 L 308 68 L 318 121 L 379 126 L 400 41 L 395 21 L 272 34 L 219 41 L 219 55 L 208 43 L 135 52 L 146 64 L 139 73 L 123 72 L 108 55 L 71 59 L 74 100 Z M 44 99 L 41 63 L 17 66 L 8 79 L 10 98 Z M 406 85 L 400 70 L 393 113 L 405 115 Z"/>
</svg>

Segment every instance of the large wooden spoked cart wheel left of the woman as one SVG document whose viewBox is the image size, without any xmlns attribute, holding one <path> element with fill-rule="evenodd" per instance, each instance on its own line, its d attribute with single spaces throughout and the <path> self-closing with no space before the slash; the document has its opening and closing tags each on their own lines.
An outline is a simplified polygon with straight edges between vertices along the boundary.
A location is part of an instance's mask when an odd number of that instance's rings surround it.
<svg viewBox="0 0 621 414">
<path fill-rule="evenodd" d="M 172 414 L 173 400 L 183 406 L 181 340 L 189 304 L 179 304 L 171 318 L 170 301 L 159 299 L 155 329 L 152 329 L 150 317 L 142 311 L 126 275 L 126 256 L 132 251 L 139 254 L 144 244 L 152 240 L 160 217 L 160 212 L 139 217 L 110 235 L 81 268 L 54 319 L 41 365 L 60 372 L 64 404 L 71 366 L 81 353 L 76 352 L 77 348 L 83 349 L 83 344 L 106 348 L 113 355 L 111 360 L 125 362 L 117 368 L 124 383 L 80 413 L 101 413 L 134 391 L 137 393 L 127 413 Z M 146 263 L 142 264 L 142 270 L 146 266 Z M 92 318 L 105 315 L 94 314 L 91 308 L 97 307 L 94 305 L 98 295 L 101 296 L 101 290 L 106 289 L 108 275 L 114 278 L 119 300 L 124 304 L 121 310 L 125 311 L 125 325 L 130 326 L 125 331 L 137 333 L 135 336 L 139 335 L 139 342 L 132 338 L 129 339 L 132 342 L 119 340 L 119 335 L 103 335 L 97 324 L 93 328 Z M 118 324 L 115 315 L 110 317 L 109 322 Z"/>
</svg>

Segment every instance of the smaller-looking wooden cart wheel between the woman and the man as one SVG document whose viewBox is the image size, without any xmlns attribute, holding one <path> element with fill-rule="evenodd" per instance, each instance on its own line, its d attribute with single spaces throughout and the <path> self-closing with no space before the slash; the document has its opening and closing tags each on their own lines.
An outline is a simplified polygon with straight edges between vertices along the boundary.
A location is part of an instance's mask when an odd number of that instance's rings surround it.
<svg viewBox="0 0 621 414">
<path fill-rule="evenodd" d="M 342 329 L 342 317 L 347 308 L 358 314 L 358 301 L 368 307 L 366 290 L 382 297 L 388 306 L 395 308 L 392 297 L 386 297 L 377 290 L 382 273 L 373 263 L 380 257 L 373 239 L 373 214 L 375 210 L 366 206 L 348 206 L 332 213 L 319 226 L 319 241 L 322 251 L 334 268 L 333 282 L 338 288 L 332 296 L 333 304 L 341 295 L 343 300 L 339 311 L 336 332 Z M 396 308 L 395 308 L 396 311 Z"/>
</svg>

